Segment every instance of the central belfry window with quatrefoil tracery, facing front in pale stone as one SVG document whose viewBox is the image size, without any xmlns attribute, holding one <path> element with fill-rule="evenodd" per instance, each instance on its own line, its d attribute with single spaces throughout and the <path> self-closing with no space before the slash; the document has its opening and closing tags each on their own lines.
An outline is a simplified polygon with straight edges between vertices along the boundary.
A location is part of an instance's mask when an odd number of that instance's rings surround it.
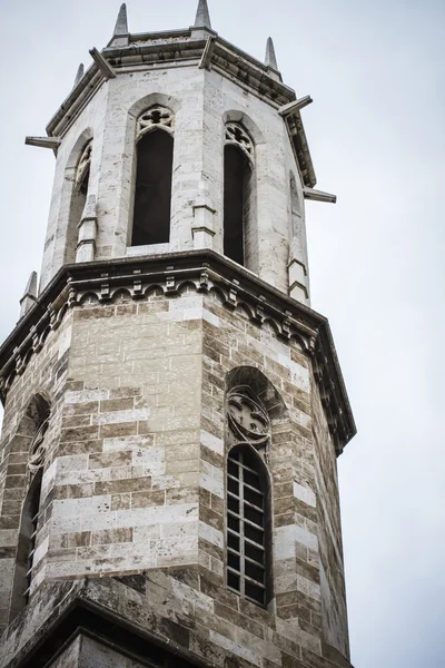
<svg viewBox="0 0 445 668">
<path fill-rule="evenodd" d="M 174 116 L 155 106 L 137 124 L 137 165 L 131 245 L 170 240 Z"/>
</svg>

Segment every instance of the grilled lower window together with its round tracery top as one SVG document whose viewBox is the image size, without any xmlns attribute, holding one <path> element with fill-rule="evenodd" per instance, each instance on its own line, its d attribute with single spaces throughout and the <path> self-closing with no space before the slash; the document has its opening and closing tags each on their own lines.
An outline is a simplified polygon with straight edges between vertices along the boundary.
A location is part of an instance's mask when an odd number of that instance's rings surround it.
<svg viewBox="0 0 445 668">
<path fill-rule="evenodd" d="M 270 420 L 247 386 L 227 397 L 227 587 L 266 607 L 270 598 Z"/>
</svg>

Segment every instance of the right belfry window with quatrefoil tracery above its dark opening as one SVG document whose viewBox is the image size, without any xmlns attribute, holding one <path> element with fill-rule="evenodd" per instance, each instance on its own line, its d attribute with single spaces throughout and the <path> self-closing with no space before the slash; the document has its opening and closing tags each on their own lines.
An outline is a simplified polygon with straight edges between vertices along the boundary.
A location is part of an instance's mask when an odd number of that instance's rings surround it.
<svg viewBox="0 0 445 668">
<path fill-rule="evenodd" d="M 237 122 L 226 125 L 224 149 L 224 254 L 249 265 L 253 243 L 254 143 Z"/>
</svg>

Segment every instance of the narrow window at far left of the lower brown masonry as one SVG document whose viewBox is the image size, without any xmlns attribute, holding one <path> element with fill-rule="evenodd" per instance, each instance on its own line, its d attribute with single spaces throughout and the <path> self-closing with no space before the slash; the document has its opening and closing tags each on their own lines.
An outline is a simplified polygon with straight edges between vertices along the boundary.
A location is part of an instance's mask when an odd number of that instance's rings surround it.
<svg viewBox="0 0 445 668">
<path fill-rule="evenodd" d="M 46 434 L 50 418 L 49 405 L 39 396 L 28 413 L 28 418 L 34 421 L 36 431 L 29 451 L 29 488 L 21 513 L 12 590 L 11 620 L 24 608 L 29 600 L 33 571 L 37 566 L 34 558 L 37 537 L 42 524 L 40 499 Z"/>
</svg>

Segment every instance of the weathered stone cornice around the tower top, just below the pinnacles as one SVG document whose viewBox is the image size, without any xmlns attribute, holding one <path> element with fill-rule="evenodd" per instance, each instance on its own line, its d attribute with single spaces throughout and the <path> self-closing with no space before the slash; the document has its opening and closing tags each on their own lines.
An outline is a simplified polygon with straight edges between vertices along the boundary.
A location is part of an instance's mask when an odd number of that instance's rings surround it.
<svg viewBox="0 0 445 668">
<path fill-rule="evenodd" d="M 130 35 L 128 46 L 108 46 L 101 55 L 117 76 L 139 69 L 181 67 L 194 61 L 198 66 L 209 37 L 214 39 L 209 65 L 219 75 L 235 81 L 277 110 L 296 99 L 295 91 L 277 79 L 275 70 L 208 28 Z M 92 63 L 49 121 L 47 134 L 50 137 L 63 137 L 105 81 L 103 73 Z M 314 187 L 315 173 L 299 111 L 295 115 L 290 132 L 294 144 L 298 147 L 296 156 L 304 183 Z"/>
</svg>

